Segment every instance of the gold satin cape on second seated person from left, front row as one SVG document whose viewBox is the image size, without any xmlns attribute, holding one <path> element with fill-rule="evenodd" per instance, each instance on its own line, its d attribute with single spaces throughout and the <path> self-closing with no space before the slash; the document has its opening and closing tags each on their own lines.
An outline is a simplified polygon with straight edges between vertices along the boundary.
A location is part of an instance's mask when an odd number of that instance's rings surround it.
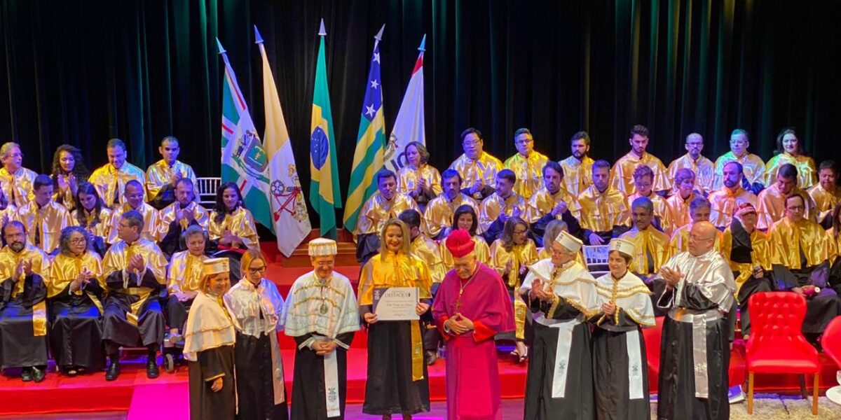
<svg viewBox="0 0 841 420">
<path fill-rule="evenodd" d="M 47 270 L 47 297 L 56 297 L 67 288 L 71 281 L 75 281 L 76 277 L 82 270 L 87 269 L 93 273 L 91 281 L 96 281 L 99 286 L 106 290 L 105 279 L 103 279 L 102 260 L 99 260 L 99 255 L 93 250 L 87 250 L 82 255 L 66 255 L 59 253 L 56 258 L 52 260 L 50 269 Z M 99 315 L 104 313 L 103 303 L 99 301 L 93 293 L 89 293 L 84 289 L 71 291 L 77 296 L 85 295 L 91 300 L 94 306 L 99 309 Z"/>
</svg>

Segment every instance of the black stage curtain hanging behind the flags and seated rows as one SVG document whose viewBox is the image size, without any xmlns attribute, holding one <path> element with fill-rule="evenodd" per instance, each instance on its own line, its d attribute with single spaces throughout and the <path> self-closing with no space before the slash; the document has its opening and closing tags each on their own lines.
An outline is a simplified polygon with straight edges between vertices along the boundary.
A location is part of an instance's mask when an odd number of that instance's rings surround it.
<svg viewBox="0 0 841 420">
<path fill-rule="evenodd" d="M 703 134 L 703 153 L 715 159 L 735 128 L 747 129 L 751 150 L 767 160 L 776 133 L 794 125 L 819 161 L 838 155 L 841 133 L 838 16 L 831 0 L 5 0 L 0 141 L 21 143 L 24 165 L 48 172 L 62 143 L 82 148 L 93 167 L 106 160 L 105 142 L 119 137 L 145 167 L 160 159 L 158 141 L 174 134 L 182 160 L 198 176 L 215 176 L 215 38 L 262 131 L 257 24 L 308 180 L 323 17 L 343 199 L 381 24 L 389 132 L 427 35 L 426 143 L 440 170 L 461 153 L 458 134 L 470 126 L 503 160 L 515 153 L 520 127 L 553 159 L 568 156 L 570 136 L 584 129 L 591 155 L 616 160 L 627 153 L 628 129 L 643 123 L 649 150 L 668 165 L 684 153 L 686 134 Z M 309 182 L 303 186 L 306 195 Z"/>
</svg>

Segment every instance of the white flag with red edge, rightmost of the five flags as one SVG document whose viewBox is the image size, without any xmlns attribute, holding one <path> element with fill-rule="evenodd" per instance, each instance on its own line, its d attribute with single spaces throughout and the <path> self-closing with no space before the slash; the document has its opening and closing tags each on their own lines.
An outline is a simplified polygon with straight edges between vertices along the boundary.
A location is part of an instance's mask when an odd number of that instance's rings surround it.
<svg viewBox="0 0 841 420">
<path fill-rule="evenodd" d="M 406 144 L 419 141 L 426 145 L 426 129 L 423 114 L 423 53 L 426 50 L 426 35 L 421 40 L 421 51 L 415 61 L 409 86 L 403 95 L 403 103 L 394 120 L 394 129 L 389 136 L 389 144 L 383 156 L 383 165 L 397 172 L 406 165 Z"/>
</svg>

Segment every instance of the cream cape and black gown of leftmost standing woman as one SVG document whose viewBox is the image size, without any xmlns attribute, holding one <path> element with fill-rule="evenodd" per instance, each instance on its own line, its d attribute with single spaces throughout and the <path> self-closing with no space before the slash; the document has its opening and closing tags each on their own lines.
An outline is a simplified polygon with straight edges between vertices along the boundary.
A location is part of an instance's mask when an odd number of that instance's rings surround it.
<svg viewBox="0 0 841 420">
<path fill-rule="evenodd" d="M 190 418 L 192 420 L 234 418 L 237 398 L 234 372 L 236 343 L 233 320 L 221 297 L 196 295 L 184 328 L 184 359 L 188 365 Z M 222 378 L 222 389 L 210 387 Z M 266 418 L 266 417 L 250 417 Z"/>
</svg>

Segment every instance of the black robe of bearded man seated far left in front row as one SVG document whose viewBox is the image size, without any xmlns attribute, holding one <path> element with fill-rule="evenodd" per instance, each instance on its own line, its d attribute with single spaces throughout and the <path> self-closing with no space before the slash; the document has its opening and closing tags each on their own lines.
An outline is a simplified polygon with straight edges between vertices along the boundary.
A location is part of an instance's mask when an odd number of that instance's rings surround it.
<svg viewBox="0 0 841 420">
<path fill-rule="evenodd" d="M 32 307 L 47 294 L 44 279 L 32 273 L 19 281 L 24 291 L 16 297 L 11 277 L 0 281 L 0 369 L 47 364 L 47 338 L 35 336 L 32 325 Z"/>
</svg>

